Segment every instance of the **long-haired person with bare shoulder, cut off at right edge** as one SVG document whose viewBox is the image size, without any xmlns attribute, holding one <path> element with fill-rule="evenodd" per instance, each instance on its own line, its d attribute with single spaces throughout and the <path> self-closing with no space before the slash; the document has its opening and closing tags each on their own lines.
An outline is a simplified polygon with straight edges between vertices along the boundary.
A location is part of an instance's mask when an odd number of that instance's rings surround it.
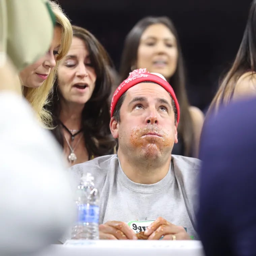
<svg viewBox="0 0 256 256">
<path fill-rule="evenodd" d="M 231 101 L 256 96 L 256 0 L 251 3 L 244 36 L 232 67 L 222 79 L 207 113 Z"/>
</svg>

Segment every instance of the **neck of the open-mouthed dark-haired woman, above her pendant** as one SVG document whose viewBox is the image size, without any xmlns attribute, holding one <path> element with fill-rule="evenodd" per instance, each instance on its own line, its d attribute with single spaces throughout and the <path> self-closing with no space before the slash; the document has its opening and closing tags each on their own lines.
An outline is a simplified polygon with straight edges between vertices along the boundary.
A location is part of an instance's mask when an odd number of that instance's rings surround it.
<svg viewBox="0 0 256 256">
<path fill-rule="evenodd" d="M 83 108 L 83 104 L 68 104 L 67 102 L 61 102 L 61 122 L 69 129 L 81 129 Z"/>
</svg>

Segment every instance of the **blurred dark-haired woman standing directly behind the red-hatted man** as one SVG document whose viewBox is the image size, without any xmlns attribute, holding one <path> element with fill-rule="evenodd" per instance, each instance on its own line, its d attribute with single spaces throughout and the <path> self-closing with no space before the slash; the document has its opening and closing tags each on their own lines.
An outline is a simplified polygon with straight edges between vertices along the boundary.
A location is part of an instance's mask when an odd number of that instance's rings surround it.
<svg viewBox="0 0 256 256">
<path fill-rule="evenodd" d="M 188 103 L 181 47 L 169 18 L 143 18 L 127 35 L 120 66 L 121 81 L 137 68 L 162 74 L 178 98 L 181 108 L 179 142 L 172 154 L 197 157 L 204 117 L 200 109 Z"/>
</svg>

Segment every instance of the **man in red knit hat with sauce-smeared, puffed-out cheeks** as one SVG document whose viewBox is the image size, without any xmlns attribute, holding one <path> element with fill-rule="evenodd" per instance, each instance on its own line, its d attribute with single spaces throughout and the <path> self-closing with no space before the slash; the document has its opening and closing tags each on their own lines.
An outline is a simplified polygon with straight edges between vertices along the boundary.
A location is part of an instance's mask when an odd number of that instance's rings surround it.
<svg viewBox="0 0 256 256">
<path fill-rule="evenodd" d="M 160 74 L 134 70 L 111 101 L 115 155 L 74 165 L 77 176 L 92 172 L 101 189 L 100 238 L 190 239 L 195 232 L 194 199 L 200 161 L 171 155 L 180 108 Z"/>
</svg>

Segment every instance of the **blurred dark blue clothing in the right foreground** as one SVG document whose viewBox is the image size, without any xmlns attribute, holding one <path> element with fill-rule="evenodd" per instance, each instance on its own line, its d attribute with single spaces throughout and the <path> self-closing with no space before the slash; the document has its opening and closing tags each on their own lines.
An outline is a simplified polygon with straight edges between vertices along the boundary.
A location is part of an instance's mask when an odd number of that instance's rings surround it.
<svg viewBox="0 0 256 256">
<path fill-rule="evenodd" d="M 256 255 L 256 99 L 204 125 L 198 233 L 207 256 Z"/>
</svg>

